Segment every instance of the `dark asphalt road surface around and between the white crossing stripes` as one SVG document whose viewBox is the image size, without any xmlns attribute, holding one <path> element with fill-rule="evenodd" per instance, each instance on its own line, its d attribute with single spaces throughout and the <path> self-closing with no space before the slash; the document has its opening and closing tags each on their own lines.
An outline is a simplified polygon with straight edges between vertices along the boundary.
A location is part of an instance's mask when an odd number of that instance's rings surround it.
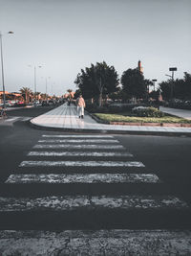
<svg viewBox="0 0 191 256">
<path fill-rule="evenodd" d="M 105 136 L 101 139 L 107 140 L 102 143 L 103 141 L 98 141 L 100 138 L 92 138 L 96 145 L 104 145 L 108 148 L 105 150 L 95 146 L 99 156 L 87 156 L 86 154 L 91 152 L 88 148 L 90 142 L 86 141 L 87 135 L 94 136 L 94 134 L 46 131 L 30 126 L 28 119 L 48 110 L 48 107 L 11 110 L 9 119 L 0 121 L 1 230 L 61 231 L 63 229 L 124 228 L 190 230 L 191 138 L 118 134 L 109 134 L 107 137 L 107 134 L 96 134 Z M 55 135 L 62 137 L 56 138 Z M 72 139 L 71 135 L 76 135 L 79 141 L 84 140 L 72 143 L 75 146 L 84 144 L 84 149 L 72 149 L 71 144 L 66 146 Z M 53 148 L 46 149 L 45 147 L 40 150 L 35 148 L 36 145 L 44 147 L 43 140 L 49 139 L 63 140 L 57 141 L 55 144 L 62 144 L 63 147 L 68 148 L 62 150 L 56 148 L 54 151 L 58 154 L 65 151 L 69 155 L 54 154 L 52 157 L 39 155 L 39 151 L 53 152 Z M 111 145 L 112 140 L 117 140 L 115 145 L 119 146 L 119 150 L 115 150 L 116 146 Z M 52 143 L 53 141 L 49 142 L 51 147 Z M 123 147 L 124 150 L 120 151 L 120 147 Z M 76 156 L 70 155 L 70 152 L 74 151 Z M 79 154 L 82 151 L 83 156 Z M 29 152 L 34 155 L 29 156 Z M 101 156 L 101 152 L 117 152 L 119 155 L 117 158 L 112 154 Z M 121 152 L 127 153 L 127 155 L 120 155 Z M 127 162 L 130 163 L 130 166 L 124 166 L 124 163 Z M 134 166 L 135 163 L 137 166 Z M 154 177 L 157 175 L 159 182 L 129 182 L 127 184 L 127 182 L 117 181 L 106 183 L 76 181 L 76 178 L 80 179 L 80 175 L 87 175 L 86 178 L 89 180 L 90 174 L 101 175 L 101 178 L 104 174 L 108 174 L 108 178 L 122 180 L 123 177 L 115 175 L 126 175 L 127 173 L 151 174 Z M 65 182 L 65 184 L 56 182 L 5 183 L 10 175 L 26 174 L 65 174 L 71 180 L 75 178 L 75 181 L 67 181 L 68 183 Z M 74 174 L 77 177 L 74 177 Z M 59 176 L 59 178 L 61 177 Z M 78 197 L 77 201 L 76 197 Z M 5 202 L 5 198 L 15 201 L 13 203 L 11 200 Z M 39 198 L 44 199 L 39 202 Z M 164 199 L 161 200 L 161 198 Z M 61 201 L 63 199 L 65 202 L 67 201 L 67 205 L 63 205 L 63 201 Z M 26 203 L 25 200 L 28 202 Z M 73 201 L 72 204 L 71 201 Z M 22 208 L 21 204 L 26 205 L 26 208 Z M 7 207 L 5 205 L 14 208 L 7 211 L 4 209 Z"/>
</svg>

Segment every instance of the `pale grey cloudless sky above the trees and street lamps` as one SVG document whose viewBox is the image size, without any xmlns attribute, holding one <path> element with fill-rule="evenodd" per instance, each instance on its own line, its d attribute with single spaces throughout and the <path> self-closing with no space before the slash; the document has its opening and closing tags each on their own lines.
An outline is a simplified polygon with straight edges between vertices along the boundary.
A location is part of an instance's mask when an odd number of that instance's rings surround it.
<svg viewBox="0 0 191 256">
<path fill-rule="evenodd" d="M 146 79 L 191 73 L 191 0 L 0 0 L 6 90 L 61 95 L 81 68 L 105 60 L 117 73 L 141 60 Z M 14 35 L 8 35 L 9 31 Z M 1 75 L 0 75 L 1 79 Z M 2 81 L 0 81 L 2 90 Z"/>
</svg>

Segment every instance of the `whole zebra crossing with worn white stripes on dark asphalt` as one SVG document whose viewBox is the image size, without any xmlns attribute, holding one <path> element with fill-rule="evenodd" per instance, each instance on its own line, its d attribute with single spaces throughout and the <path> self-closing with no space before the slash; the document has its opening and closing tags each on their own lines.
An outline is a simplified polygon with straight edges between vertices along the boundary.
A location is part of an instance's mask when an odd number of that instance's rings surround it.
<svg viewBox="0 0 191 256">
<path fill-rule="evenodd" d="M 174 216 L 173 221 L 179 220 L 185 213 L 187 216 L 188 204 L 176 195 L 165 194 L 165 191 L 155 195 L 152 189 L 154 186 L 162 188 L 163 181 L 154 171 L 147 170 L 144 163 L 138 161 L 112 135 L 43 134 L 18 168 L 11 172 L 5 184 L 12 186 L 12 189 L 25 186 L 22 196 L 13 196 L 13 191 L 12 196 L 0 197 L 2 228 L 6 227 L 4 220 L 9 220 L 8 229 L 19 230 L 21 221 L 24 229 L 29 229 L 30 239 L 31 236 L 44 239 L 40 245 L 36 244 L 36 250 L 37 247 L 38 250 L 45 247 L 46 240 L 56 241 L 55 254 L 50 248 L 49 253 L 42 255 L 58 255 L 56 253 L 60 246 L 61 253 L 66 253 L 67 246 L 70 247 L 71 254 L 66 255 L 162 255 L 158 251 L 176 250 L 191 253 L 190 234 L 184 243 L 183 231 L 180 236 L 180 232 L 159 230 L 160 225 L 161 228 L 166 224 L 168 227 L 168 221 L 169 227 L 172 226 L 167 211 Z M 38 190 L 40 186 L 42 190 L 49 191 L 43 191 L 41 195 L 42 191 L 39 190 L 38 196 L 30 196 L 31 191 L 25 193 L 25 189 Z M 146 228 L 150 229 L 150 223 L 155 229 L 148 231 Z M 33 228 L 59 229 L 62 239 L 69 239 L 68 245 L 61 243 L 61 237 L 52 231 L 48 234 L 45 231 L 32 231 Z M 83 232 L 82 229 L 87 231 Z M 20 247 L 15 239 L 12 244 L 17 244 L 18 251 L 22 251 L 27 246 L 26 231 L 10 232 L 0 231 L 0 240 L 2 237 L 11 239 L 18 236 Z M 143 243 L 143 234 L 147 235 L 146 240 L 150 244 L 148 247 L 144 241 L 145 254 L 138 247 L 140 241 Z M 170 247 L 167 247 L 166 241 L 170 241 Z M 178 242 L 184 244 L 180 247 Z M 9 239 L 7 243 L 10 243 Z M 121 244 L 120 248 L 118 244 Z M 151 244 L 156 254 L 151 253 Z M 0 244 L 0 252 L 1 249 Z M 29 252 L 28 255 L 34 254 Z"/>
</svg>

